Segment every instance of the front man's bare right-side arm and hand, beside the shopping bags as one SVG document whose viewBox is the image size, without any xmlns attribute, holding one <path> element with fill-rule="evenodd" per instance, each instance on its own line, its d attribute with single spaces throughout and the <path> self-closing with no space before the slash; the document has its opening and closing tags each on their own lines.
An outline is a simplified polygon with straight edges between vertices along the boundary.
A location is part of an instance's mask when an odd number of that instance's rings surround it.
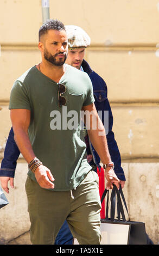
<svg viewBox="0 0 159 256">
<path fill-rule="evenodd" d="M 92 115 L 90 115 L 90 120 L 88 120 L 87 115 L 85 115 L 84 122 L 86 124 L 90 141 L 93 147 L 96 149 L 101 159 L 101 162 L 103 162 L 104 164 L 111 162 L 109 149 L 107 147 L 104 125 L 98 116 L 94 103 L 82 107 L 82 111 L 88 111 L 92 113 Z M 119 179 L 117 178 L 112 168 L 106 168 L 105 176 L 107 179 L 107 189 L 112 187 L 112 183 L 115 183 L 117 186 L 119 185 Z"/>
</svg>

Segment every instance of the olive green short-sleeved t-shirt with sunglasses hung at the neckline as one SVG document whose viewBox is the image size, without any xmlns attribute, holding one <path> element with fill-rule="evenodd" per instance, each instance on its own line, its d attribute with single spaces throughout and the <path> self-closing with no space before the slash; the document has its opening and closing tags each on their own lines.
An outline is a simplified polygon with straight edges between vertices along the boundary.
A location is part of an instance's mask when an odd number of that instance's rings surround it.
<svg viewBox="0 0 159 256">
<path fill-rule="evenodd" d="M 9 103 L 9 109 L 31 111 L 29 139 L 36 157 L 54 176 L 54 191 L 72 190 L 91 170 L 86 144 L 80 138 L 80 111 L 94 102 L 92 83 L 85 72 L 67 64 L 65 67 L 60 79 L 66 86 L 62 94 L 65 106 L 58 106 L 58 83 L 36 66 L 15 81 Z M 28 175 L 36 181 L 30 169 Z"/>
</svg>

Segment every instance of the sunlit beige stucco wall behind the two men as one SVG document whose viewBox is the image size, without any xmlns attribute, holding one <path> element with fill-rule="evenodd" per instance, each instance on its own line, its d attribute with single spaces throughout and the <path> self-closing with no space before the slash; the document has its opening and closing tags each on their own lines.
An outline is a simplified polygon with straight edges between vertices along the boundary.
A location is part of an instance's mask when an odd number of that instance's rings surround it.
<svg viewBox="0 0 159 256">
<path fill-rule="evenodd" d="M 81 26 L 91 36 L 85 59 L 107 83 L 113 131 L 126 175 L 125 194 L 133 220 L 144 221 L 159 242 L 158 0 L 50 0 L 50 17 Z M 13 82 L 40 62 L 41 0 L 1 0 L 0 156 L 11 127 L 8 103 Z M 29 230 L 24 192 L 27 165 L 18 161 L 16 189 L 1 209 L 0 243 Z"/>
</svg>

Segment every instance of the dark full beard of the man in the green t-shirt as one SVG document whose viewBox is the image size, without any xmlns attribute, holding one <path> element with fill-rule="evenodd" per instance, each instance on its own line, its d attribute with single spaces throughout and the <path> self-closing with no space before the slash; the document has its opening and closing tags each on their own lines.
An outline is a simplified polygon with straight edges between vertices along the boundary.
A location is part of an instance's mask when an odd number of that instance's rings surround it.
<svg viewBox="0 0 159 256">
<path fill-rule="evenodd" d="M 63 54 L 63 55 L 64 55 L 64 59 L 61 58 L 61 60 L 59 60 L 59 61 L 56 60 L 56 56 L 58 56 L 58 54 Z M 48 62 L 54 64 L 55 66 L 62 66 L 62 65 L 65 63 L 65 61 L 66 61 L 67 53 L 66 53 L 66 52 L 59 52 L 59 53 L 56 53 L 55 55 L 52 55 L 52 54 L 50 54 L 50 53 L 47 51 L 47 49 L 45 48 L 45 49 L 44 49 L 44 54 L 43 54 L 43 56 L 44 56 L 44 58 L 45 58 Z"/>
</svg>

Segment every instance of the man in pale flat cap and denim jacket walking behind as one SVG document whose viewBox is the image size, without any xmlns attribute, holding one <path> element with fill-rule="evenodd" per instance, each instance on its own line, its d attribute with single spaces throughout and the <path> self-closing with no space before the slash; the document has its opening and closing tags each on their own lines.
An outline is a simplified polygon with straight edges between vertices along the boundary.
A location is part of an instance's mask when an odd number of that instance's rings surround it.
<svg viewBox="0 0 159 256">
<path fill-rule="evenodd" d="M 68 37 L 68 56 L 66 59 L 66 63 L 74 66 L 74 68 L 85 71 L 88 76 L 90 76 L 92 85 L 93 85 L 93 93 L 94 93 L 94 104 L 96 105 L 97 111 L 103 112 L 103 123 L 104 123 L 104 111 L 109 111 L 109 132 L 107 133 L 107 144 L 109 146 L 109 151 L 111 155 L 111 159 L 115 164 L 115 173 L 120 180 L 120 184 L 122 188 L 125 183 L 125 175 L 123 168 L 121 167 L 121 159 L 120 153 L 115 141 L 115 136 L 112 131 L 113 126 L 113 116 L 110 107 L 109 100 L 107 99 L 107 87 L 103 78 L 101 78 L 96 72 L 94 72 L 90 65 L 84 59 L 85 57 L 85 48 L 90 46 L 91 39 L 90 36 L 80 27 L 69 25 L 65 26 L 67 37 Z M 93 148 L 93 145 L 90 143 L 86 130 L 85 132 L 85 142 L 87 145 L 87 160 L 91 164 L 92 168 L 95 172 L 97 172 L 97 168 L 101 169 L 100 166 L 100 158 Z M 73 241 L 73 236 L 69 231 L 68 224 L 65 221 L 63 224 L 58 236 L 56 237 L 56 244 L 71 244 Z"/>
</svg>

